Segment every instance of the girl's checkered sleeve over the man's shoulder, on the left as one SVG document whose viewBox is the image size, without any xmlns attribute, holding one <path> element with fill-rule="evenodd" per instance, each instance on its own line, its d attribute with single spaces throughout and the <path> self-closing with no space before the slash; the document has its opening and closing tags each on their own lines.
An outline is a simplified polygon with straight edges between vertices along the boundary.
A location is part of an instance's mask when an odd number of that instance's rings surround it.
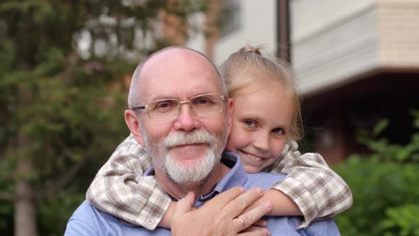
<svg viewBox="0 0 419 236">
<path fill-rule="evenodd" d="M 154 176 L 143 176 L 150 166 L 148 153 L 128 136 L 97 173 L 87 200 L 105 213 L 153 230 L 168 210 L 170 198 Z"/>
</svg>

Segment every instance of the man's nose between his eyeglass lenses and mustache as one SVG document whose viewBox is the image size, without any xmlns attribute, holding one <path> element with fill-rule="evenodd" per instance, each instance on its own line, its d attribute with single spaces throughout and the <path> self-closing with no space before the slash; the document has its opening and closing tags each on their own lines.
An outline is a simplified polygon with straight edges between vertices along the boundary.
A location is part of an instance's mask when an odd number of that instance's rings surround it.
<svg viewBox="0 0 419 236">
<path fill-rule="evenodd" d="M 201 123 L 188 102 L 180 104 L 179 114 L 175 120 L 174 127 L 176 130 L 183 130 L 185 132 L 189 132 L 192 129 L 200 129 Z"/>
</svg>

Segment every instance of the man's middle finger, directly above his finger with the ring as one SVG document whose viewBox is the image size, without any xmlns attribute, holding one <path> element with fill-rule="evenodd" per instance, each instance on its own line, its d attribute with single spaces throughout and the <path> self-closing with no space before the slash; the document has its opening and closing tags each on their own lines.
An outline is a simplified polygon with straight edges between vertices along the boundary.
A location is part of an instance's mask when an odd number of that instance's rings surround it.
<svg viewBox="0 0 419 236">
<path fill-rule="evenodd" d="M 251 188 L 251 190 L 239 195 L 236 199 L 227 204 L 223 208 L 223 211 L 227 213 L 227 215 L 229 215 L 231 218 L 235 218 L 237 215 L 243 213 L 244 210 L 249 207 L 249 205 L 254 203 L 257 199 L 261 198 L 262 195 L 262 188 Z"/>
</svg>

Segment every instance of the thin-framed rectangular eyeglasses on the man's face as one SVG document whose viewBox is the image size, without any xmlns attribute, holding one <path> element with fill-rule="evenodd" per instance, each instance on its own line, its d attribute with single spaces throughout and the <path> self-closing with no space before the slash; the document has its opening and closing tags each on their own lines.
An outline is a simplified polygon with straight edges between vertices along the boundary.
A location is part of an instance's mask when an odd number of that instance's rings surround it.
<svg viewBox="0 0 419 236">
<path fill-rule="evenodd" d="M 141 107 L 134 107 L 132 110 L 147 109 L 148 117 L 150 117 L 150 119 L 160 121 L 171 120 L 178 117 L 179 112 L 182 111 L 182 104 L 188 103 L 192 112 L 194 112 L 195 115 L 202 117 L 222 112 L 225 100 L 225 96 L 217 93 L 208 93 L 191 97 L 186 101 L 180 101 L 178 99 L 156 100 L 148 102 L 148 104 Z"/>
</svg>

